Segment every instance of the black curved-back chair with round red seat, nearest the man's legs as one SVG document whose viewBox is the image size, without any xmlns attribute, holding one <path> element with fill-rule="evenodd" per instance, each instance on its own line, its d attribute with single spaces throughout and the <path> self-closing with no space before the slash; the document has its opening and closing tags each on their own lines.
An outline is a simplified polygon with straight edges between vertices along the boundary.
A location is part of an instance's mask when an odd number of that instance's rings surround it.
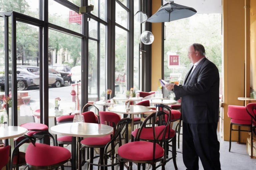
<svg viewBox="0 0 256 170">
<path fill-rule="evenodd" d="M 147 122 L 150 120 L 152 126 L 148 127 Z M 168 113 L 158 111 L 150 114 L 138 129 L 134 141 L 118 148 L 120 170 L 123 170 L 125 163 L 128 162 L 129 167 L 132 166 L 132 163 L 137 163 L 138 169 L 142 164 L 143 170 L 145 170 L 145 164 L 151 164 L 152 170 L 158 167 L 164 168 L 166 163 L 165 138 L 168 135 L 166 132 L 169 126 Z M 157 162 L 160 164 L 156 166 Z"/>
</svg>

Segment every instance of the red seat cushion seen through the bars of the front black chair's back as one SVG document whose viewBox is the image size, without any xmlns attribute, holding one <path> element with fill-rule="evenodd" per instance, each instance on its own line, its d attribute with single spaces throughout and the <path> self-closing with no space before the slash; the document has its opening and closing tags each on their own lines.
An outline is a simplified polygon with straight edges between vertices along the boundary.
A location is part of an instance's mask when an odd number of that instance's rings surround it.
<svg viewBox="0 0 256 170">
<path fill-rule="evenodd" d="M 160 131 L 164 128 L 165 128 L 165 126 L 155 127 L 156 134 L 160 133 Z M 170 131 L 166 131 L 166 133 L 165 133 L 165 139 L 172 138 L 176 134 L 175 130 L 173 130 L 172 128 L 169 128 L 169 129 L 170 129 Z M 139 130 L 139 128 L 132 131 L 132 135 L 134 137 L 136 137 L 138 130 Z M 141 134 L 140 134 L 140 138 L 141 139 L 151 139 L 151 140 L 153 140 L 154 136 L 153 136 L 152 130 L 153 130 L 153 128 L 151 128 L 151 127 L 150 128 L 143 128 L 142 131 L 141 131 Z"/>
</svg>

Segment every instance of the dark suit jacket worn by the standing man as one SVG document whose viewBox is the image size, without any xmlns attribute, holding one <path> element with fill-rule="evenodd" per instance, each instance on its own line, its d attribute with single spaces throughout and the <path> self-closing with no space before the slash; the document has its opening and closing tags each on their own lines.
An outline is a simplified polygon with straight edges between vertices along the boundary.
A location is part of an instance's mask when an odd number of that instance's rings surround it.
<svg viewBox="0 0 256 170">
<path fill-rule="evenodd" d="M 182 86 L 174 86 L 176 98 L 181 97 L 182 120 L 187 124 L 218 123 L 218 68 L 204 58 Z"/>
</svg>

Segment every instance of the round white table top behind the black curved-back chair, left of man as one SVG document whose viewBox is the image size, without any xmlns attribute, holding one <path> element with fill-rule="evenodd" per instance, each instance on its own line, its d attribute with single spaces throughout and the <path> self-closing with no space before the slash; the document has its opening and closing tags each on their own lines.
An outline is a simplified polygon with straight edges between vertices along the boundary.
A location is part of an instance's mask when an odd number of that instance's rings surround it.
<svg viewBox="0 0 256 170">
<path fill-rule="evenodd" d="M 119 114 L 142 114 L 147 112 L 155 112 L 155 110 L 152 110 L 146 106 L 140 106 L 140 105 L 130 105 L 130 110 L 126 110 L 125 105 L 118 105 L 114 106 L 113 108 L 108 108 L 110 112 L 119 113 Z"/>
</svg>

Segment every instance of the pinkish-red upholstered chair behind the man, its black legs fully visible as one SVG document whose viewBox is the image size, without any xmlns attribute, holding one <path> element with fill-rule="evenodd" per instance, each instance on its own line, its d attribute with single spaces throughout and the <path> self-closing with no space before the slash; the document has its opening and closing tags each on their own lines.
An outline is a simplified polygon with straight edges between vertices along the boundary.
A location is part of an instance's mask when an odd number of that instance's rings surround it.
<svg viewBox="0 0 256 170">
<path fill-rule="evenodd" d="M 238 131 L 238 143 L 240 143 L 240 132 L 251 132 L 251 116 L 247 113 L 245 106 L 228 105 L 228 117 L 230 118 L 230 136 L 229 136 L 229 152 L 231 149 L 231 134 L 232 131 Z M 237 126 L 238 128 L 233 128 Z M 241 129 L 241 127 L 248 127 L 249 130 Z"/>
</svg>

